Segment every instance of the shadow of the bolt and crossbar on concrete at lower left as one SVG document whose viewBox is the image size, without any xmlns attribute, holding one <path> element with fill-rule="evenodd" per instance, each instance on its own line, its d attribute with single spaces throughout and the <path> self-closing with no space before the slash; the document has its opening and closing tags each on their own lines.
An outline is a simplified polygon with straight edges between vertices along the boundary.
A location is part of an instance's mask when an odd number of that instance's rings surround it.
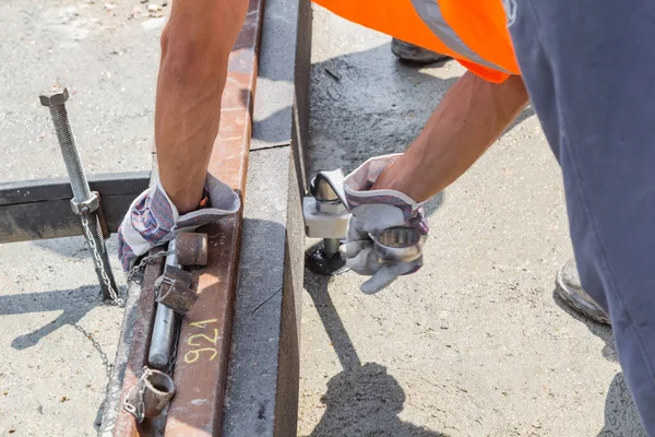
<svg viewBox="0 0 655 437">
<path fill-rule="evenodd" d="M 124 294 L 124 290 L 120 292 Z M 16 326 L 14 333 L 19 335 L 12 341 L 11 346 L 22 351 L 35 346 L 46 335 L 66 324 L 79 329 L 78 322 L 100 305 L 103 299 L 98 286 L 85 285 L 76 290 L 0 296 L 0 317 L 25 312 L 62 311 L 55 320 L 32 332 L 20 333 L 20 326 Z"/>
</svg>

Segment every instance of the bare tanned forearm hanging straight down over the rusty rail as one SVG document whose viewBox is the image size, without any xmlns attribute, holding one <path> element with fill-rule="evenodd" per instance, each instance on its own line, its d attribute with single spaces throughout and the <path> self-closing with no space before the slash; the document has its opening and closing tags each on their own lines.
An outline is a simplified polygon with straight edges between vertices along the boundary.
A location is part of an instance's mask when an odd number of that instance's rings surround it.
<svg viewBox="0 0 655 437">
<path fill-rule="evenodd" d="M 176 0 L 162 34 L 155 145 L 162 186 L 181 214 L 198 208 L 221 118 L 243 0 Z"/>
</svg>

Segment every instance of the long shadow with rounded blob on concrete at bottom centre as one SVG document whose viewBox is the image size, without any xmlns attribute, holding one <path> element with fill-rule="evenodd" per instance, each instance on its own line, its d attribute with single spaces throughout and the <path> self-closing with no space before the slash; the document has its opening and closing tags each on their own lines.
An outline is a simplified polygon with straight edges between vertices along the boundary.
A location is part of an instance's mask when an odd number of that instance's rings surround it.
<svg viewBox="0 0 655 437">
<path fill-rule="evenodd" d="M 403 388 L 388 374 L 386 367 L 377 363 L 361 364 L 327 293 L 329 281 L 326 276 L 305 272 L 305 288 L 344 370 L 327 381 L 327 390 L 321 398 L 325 412 L 310 436 L 445 436 L 398 417 L 406 399 Z"/>
</svg>

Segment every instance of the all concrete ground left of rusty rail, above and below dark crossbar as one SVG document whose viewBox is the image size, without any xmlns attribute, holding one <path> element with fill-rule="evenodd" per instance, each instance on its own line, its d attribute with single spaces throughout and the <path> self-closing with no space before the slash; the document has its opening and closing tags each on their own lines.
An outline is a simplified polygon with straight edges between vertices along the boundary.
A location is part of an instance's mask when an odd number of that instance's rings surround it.
<svg viewBox="0 0 655 437">
<path fill-rule="evenodd" d="M 38 103 L 39 91 L 53 84 L 71 91 L 87 173 L 150 169 L 164 19 L 146 7 L 0 2 L 1 181 L 66 175 Z M 109 252 L 124 293 L 115 239 Z M 98 293 L 81 237 L 0 246 L 0 435 L 96 434 L 122 320 Z"/>
</svg>

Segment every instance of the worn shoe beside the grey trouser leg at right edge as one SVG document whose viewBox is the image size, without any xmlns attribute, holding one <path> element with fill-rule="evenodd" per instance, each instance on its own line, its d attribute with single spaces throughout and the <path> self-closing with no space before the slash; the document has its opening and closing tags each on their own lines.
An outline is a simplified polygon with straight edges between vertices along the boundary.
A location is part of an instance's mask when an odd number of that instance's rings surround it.
<svg viewBox="0 0 655 437">
<path fill-rule="evenodd" d="M 577 267 L 572 258 L 557 272 L 556 293 L 571 308 L 599 323 L 610 324 L 609 316 L 594 299 L 582 290 Z"/>
</svg>

